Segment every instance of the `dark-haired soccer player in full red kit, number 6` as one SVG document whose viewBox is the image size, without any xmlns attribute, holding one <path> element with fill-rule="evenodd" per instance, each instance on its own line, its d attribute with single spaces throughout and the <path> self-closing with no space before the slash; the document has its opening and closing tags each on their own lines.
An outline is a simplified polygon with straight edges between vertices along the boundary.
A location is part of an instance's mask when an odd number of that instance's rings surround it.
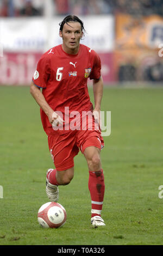
<svg viewBox="0 0 163 256">
<path fill-rule="evenodd" d="M 91 224 L 96 228 L 105 225 L 101 217 L 105 184 L 100 157 L 104 141 L 97 128 L 103 95 L 101 60 L 95 51 L 80 44 L 85 32 L 82 20 L 69 15 L 59 25 L 62 44 L 43 54 L 30 86 L 40 106 L 55 166 L 47 170 L 46 193 L 51 201 L 58 201 L 58 186 L 73 179 L 73 159 L 80 150 L 89 169 Z M 87 78 L 93 80 L 94 109 Z"/>
</svg>

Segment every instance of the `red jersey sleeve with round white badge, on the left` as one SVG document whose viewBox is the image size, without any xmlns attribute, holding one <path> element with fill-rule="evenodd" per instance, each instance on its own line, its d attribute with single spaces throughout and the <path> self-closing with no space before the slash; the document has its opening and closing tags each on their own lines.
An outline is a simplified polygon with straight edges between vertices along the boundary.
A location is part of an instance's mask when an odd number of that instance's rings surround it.
<svg viewBox="0 0 163 256">
<path fill-rule="evenodd" d="M 50 76 L 50 62 L 49 58 L 47 58 L 45 55 L 41 57 L 39 62 L 37 63 L 37 69 L 34 72 L 32 81 L 35 84 L 35 86 L 39 88 L 46 88 L 47 87 L 47 81 Z"/>
</svg>

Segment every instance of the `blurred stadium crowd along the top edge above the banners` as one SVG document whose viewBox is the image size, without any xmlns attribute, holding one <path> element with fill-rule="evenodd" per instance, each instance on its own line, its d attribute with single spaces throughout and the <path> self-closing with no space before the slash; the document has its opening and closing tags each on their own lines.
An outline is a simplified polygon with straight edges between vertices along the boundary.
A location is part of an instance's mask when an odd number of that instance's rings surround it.
<svg viewBox="0 0 163 256">
<path fill-rule="evenodd" d="M 1 17 L 42 16 L 45 0 L 1 0 Z M 128 13 L 163 16 L 163 0 L 51 0 L 54 15 Z"/>
</svg>

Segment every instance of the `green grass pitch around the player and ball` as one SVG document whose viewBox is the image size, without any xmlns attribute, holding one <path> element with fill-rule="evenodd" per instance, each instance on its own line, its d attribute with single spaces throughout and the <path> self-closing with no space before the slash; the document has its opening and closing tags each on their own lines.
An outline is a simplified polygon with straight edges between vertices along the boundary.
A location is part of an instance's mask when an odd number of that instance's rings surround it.
<svg viewBox="0 0 163 256">
<path fill-rule="evenodd" d="M 101 153 L 106 227 L 91 228 L 89 176 L 79 153 L 71 184 L 59 187 L 67 221 L 43 229 L 37 211 L 48 202 L 45 173 L 53 162 L 39 106 L 29 87 L 0 87 L 0 245 L 163 245 L 162 98 L 163 88 L 104 89 L 102 111 L 111 111 Z"/>
</svg>

